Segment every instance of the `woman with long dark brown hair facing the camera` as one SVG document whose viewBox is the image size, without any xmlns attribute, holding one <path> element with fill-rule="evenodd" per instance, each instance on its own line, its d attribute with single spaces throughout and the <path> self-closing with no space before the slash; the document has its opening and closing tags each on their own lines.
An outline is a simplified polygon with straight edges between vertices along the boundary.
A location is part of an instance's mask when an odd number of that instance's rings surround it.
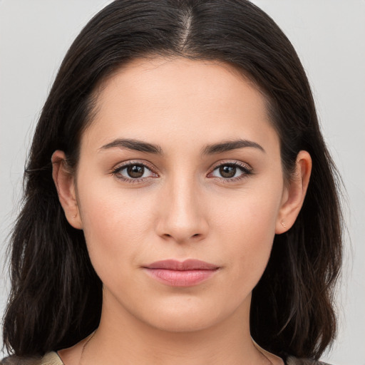
<svg viewBox="0 0 365 365">
<path fill-rule="evenodd" d="M 11 245 L 4 364 L 315 364 L 341 211 L 282 31 L 243 0 L 103 9 L 43 108 Z"/>
</svg>

